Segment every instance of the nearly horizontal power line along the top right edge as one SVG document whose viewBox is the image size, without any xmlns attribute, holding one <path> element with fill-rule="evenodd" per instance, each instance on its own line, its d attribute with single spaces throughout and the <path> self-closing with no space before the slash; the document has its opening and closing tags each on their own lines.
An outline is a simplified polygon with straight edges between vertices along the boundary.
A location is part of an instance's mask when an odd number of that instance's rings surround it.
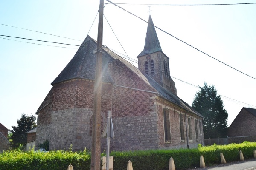
<svg viewBox="0 0 256 170">
<path fill-rule="evenodd" d="M 109 1 L 108 1 L 109 2 Z M 111 4 L 111 3 L 106 3 Z M 224 3 L 224 4 L 143 4 L 143 3 L 115 3 L 122 5 L 150 5 L 150 6 L 222 6 L 222 5 L 249 5 L 256 3 Z"/>
</svg>

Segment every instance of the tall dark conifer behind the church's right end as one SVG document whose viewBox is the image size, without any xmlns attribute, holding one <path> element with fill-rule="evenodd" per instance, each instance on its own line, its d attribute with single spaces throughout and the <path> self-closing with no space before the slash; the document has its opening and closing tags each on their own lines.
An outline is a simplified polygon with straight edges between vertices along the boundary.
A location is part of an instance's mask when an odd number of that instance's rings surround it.
<svg viewBox="0 0 256 170">
<path fill-rule="evenodd" d="M 201 91 L 195 94 L 192 108 L 204 116 L 204 138 L 217 138 L 227 136 L 227 111 L 224 109 L 221 96 L 213 85 L 200 87 Z"/>
</svg>

